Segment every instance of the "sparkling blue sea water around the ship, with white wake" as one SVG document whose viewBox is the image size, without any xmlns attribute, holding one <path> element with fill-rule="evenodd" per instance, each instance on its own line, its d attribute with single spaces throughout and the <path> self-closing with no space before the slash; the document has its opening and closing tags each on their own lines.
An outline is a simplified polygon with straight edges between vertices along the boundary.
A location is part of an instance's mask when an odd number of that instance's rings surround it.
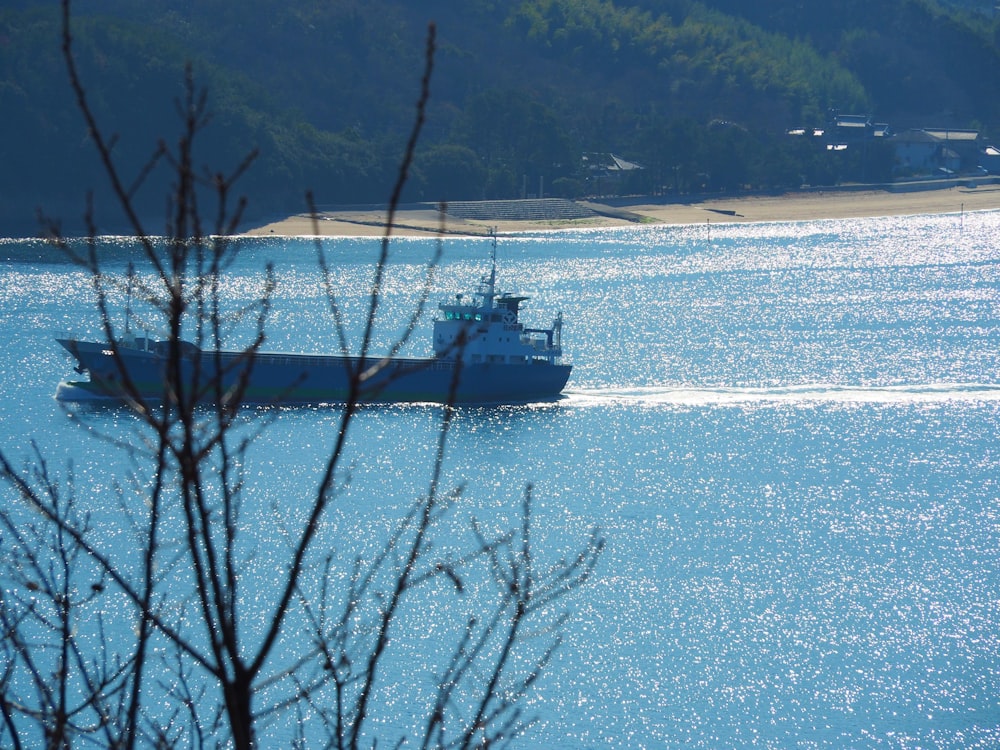
<svg viewBox="0 0 1000 750">
<path fill-rule="evenodd" d="M 524 746 L 1000 745 L 998 236 L 1000 212 L 983 212 L 501 241 L 501 285 L 532 296 L 529 319 L 562 311 L 574 372 L 555 404 L 459 411 L 454 533 L 471 515 L 515 523 L 532 482 L 543 561 L 595 526 L 607 539 L 567 603 Z M 434 242 L 395 247 L 380 343 Z M 326 249 L 356 315 L 375 243 Z M 106 250 L 124 269 L 127 243 Z M 468 289 L 487 252 L 446 239 L 432 299 Z M 23 242 L 0 257 L 0 443 L 24 459 L 35 440 L 72 458 L 78 493 L 110 496 L 121 459 L 96 436 L 130 418 L 72 419 L 52 399 L 70 363 L 51 332 L 98 330 L 87 279 Z M 310 242 L 246 241 L 226 281 L 233 310 L 268 260 L 269 348 L 335 347 Z M 418 336 L 408 351 L 429 348 Z M 427 486 L 438 416 L 361 413 L 323 545 L 348 558 L 378 546 Z M 335 425 L 328 409 L 276 417 L 249 471 L 277 498 L 271 521 L 296 517 Z M 258 531 L 254 574 L 273 562 L 274 525 Z M 431 679 L 415 658 L 400 683 Z"/>
</svg>

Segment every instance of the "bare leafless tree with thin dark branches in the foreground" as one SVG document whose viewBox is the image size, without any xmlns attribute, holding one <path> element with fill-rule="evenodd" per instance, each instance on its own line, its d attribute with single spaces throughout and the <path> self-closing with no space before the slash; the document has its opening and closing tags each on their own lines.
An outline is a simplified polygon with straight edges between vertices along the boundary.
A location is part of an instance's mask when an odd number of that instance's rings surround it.
<svg viewBox="0 0 1000 750">
<path fill-rule="evenodd" d="M 52 242 L 89 273 L 110 350 L 120 365 L 132 431 L 104 435 L 132 467 L 89 497 L 80 467 L 58 472 L 36 451 L 25 468 L 0 454 L 9 487 L 0 499 L 0 745 L 252 748 L 276 744 L 357 748 L 413 741 L 425 747 L 493 747 L 527 730 L 524 699 L 558 647 L 565 616 L 560 601 L 590 575 L 602 549 L 593 533 L 568 560 L 542 565 L 534 546 L 531 492 L 506 534 L 473 523 L 460 554 L 436 544 L 455 513 L 461 488 L 442 486 L 442 465 L 455 410 L 441 409 L 427 488 L 395 519 L 381 551 L 345 560 L 321 547 L 321 524 L 350 482 L 347 446 L 370 372 L 351 373 L 350 395 L 337 412 L 325 465 L 305 497 L 253 495 L 251 447 L 266 444 L 278 410 L 249 412 L 245 382 L 184 372 L 184 340 L 218 356 L 233 325 L 222 291 L 235 246 L 242 202 L 237 179 L 204 174 L 192 160 L 208 121 L 206 99 L 189 75 L 179 102 L 181 135 L 162 145 L 147 170 L 126 180 L 113 143 L 93 115 L 73 55 L 69 1 L 64 0 L 64 52 L 77 102 L 107 176 L 132 223 L 141 264 L 124 277 L 106 273 L 97 227 L 81 246 L 54 233 Z M 392 193 L 390 213 L 406 182 L 428 96 L 434 37 L 416 123 Z M 166 236 L 158 239 L 133 208 L 149 171 L 169 168 Z M 211 205 L 211 208 L 207 208 Z M 55 229 L 54 224 L 49 225 Z M 81 249 L 82 247 L 82 249 Z M 390 258 L 388 235 L 372 270 L 365 333 L 367 353 L 380 313 Z M 440 246 L 439 246 L 440 248 Z M 342 349 L 348 348 L 334 266 L 321 244 L 317 257 Z M 420 316 L 436 259 L 431 259 Z M 249 366 L 267 338 L 275 284 L 267 272 L 256 304 L 242 311 L 255 332 L 243 350 Z M 147 399 L 121 364 L 123 331 L 112 300 L 128 293 L 168 331 L 160 398 Z M 404 334 L 405 337 L 406 334 Z M 401 343 L 401 342 L 398 342 Z M 86 416 L 80 419 L 86 420 Z M 95 459 L 99 460 L 99 459 Z M 86 467 L 99 470 L 100 467 Z M 255 580 L 251 561 L 260 537 L 247 520 L 261 507 L 282 507 L 284 546 L 274 580 Z M 275 520 L 277 523 L 277 519 Z M 350 539 L 338 540 L 350 546 Z M 123 543 L 124 542 L 124 543 Z M 391 701 L 408 675 L 387 662 L 416 648 L 412 618 L 442 598 L 471 597 L 478 614 L 452 622 L 441 655 L 424 654 L 433 689 L 423 695 L 419 736 L 387 729 L 380 701 Z M 400 684 L 393 684 L 393 677 Z M 390 709 L 391 710 L 391 709 Z M 284 727 L 285 734 L 279 729 Z"/>
</svg>

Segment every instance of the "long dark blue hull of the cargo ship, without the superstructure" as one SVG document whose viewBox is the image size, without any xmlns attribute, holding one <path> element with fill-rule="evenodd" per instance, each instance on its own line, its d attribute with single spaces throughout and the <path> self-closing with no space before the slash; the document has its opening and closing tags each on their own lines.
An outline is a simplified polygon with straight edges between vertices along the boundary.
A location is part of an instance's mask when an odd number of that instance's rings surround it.
<svg viewBox="0 0 1000 750">
<path fill-rule="evenodd" d="M 60 384 L 56 397 L 78 401 L 127 398 L 121 368 L 106 344 L 59 339 L 90 379 Z M 164 391 L 165 344 L 140 339 L 119 346 L 122 366 L 143 398 L 160 400 Z M 356 357 L 258 353 L 252 360 L 237 352 L 202 352 L 185 345 L 185 386 L 197 389 L 197 400 L 214 402 L 242 388 L 249 404 L 343 403 L 352 377 L 366 372 L 360 388 L 363 402 L 434 402 L 509 404 L 556 398 L 569 379 L 571 365 L 544 360 L 517 363 L 459 363 L 443 358 Z M 218 375 L 218 377 L 216 377 Z"/>
</svg>

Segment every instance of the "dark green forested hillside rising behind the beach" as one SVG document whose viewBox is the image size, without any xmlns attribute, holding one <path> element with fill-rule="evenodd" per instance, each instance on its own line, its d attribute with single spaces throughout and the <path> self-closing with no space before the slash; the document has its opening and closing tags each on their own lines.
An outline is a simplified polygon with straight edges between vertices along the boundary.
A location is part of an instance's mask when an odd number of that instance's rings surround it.
<svg viewBox="0 0 1000 750">
<path fill-rule="evenodd" d="M 638 192 L 781 188 L 852 175 L 801 139 L 831 109 L 1000 129 L 989 8 L 930 0 L 79 0 L 74 38 L 116 154 L 137 174 L 177 130 L 185 63 L 208 89 L 199 158 L 232 169 L 253 217 L 385 200 L 437 28 L 432 106 L 408 198 L 598 189 L 588 152 L 645 169 Z M 36 208 L 73 225 L 109 204 L 60 60 L 55 0 L 0 9 L 0 234 Z M 866 176 L 891 165 L 876 157 Z M 162 188 L 140 192 L 162 211 Z"/>
</svg>

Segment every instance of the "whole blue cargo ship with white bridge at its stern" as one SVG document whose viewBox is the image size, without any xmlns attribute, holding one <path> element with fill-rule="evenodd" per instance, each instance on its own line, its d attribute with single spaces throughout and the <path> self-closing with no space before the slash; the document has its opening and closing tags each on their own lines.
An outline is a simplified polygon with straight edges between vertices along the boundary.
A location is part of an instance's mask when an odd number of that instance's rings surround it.
<svg viewBox="0 0 1000 750">
<path fill-rule="evenodd" d="M 562 362 L 562 314 L 548 328 L 521 321 L 528 297 L 499 293 L 491 268 L 475 292 L 438 305 L 431 357 L 202 350 L 181 341 L 181 380 L 200 402 L 244 404 L 431 402 L 517 404 L 557 398 L 572 366 Z M 62 401 L 162 401 L 170 342 L 127 335 L 115 342 L 56 339 L 86 380 L 59 384 Z"/>
</svg>

